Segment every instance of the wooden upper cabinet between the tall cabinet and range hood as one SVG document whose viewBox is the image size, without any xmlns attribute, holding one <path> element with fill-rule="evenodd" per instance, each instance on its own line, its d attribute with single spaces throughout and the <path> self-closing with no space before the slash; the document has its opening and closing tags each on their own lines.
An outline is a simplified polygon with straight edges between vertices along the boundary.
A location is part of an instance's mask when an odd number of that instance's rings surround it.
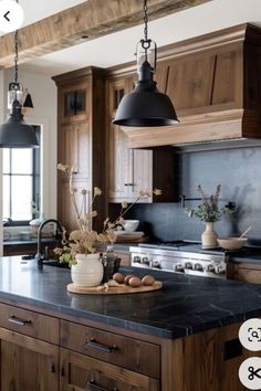
<svg viewBox="0 0 261 391">
<path fill-rule="evenodd" d="M 106 82 L 107 200 L 133 202 L 142 190 L 152 197 L 140 202 L 170 202 L 177 197 L 173 149 L 129 149 L 128 136 L 121 126 L 112 123 L 121 99 L 134 88 L 135 78 L 134 75 L 108 77 Z M 166 84 L 163 68 L 159 70 L 158 80 L 159 85 Z M 163 190 L 161 197 L 153 196 L 155 188 Z"/>
</svg>

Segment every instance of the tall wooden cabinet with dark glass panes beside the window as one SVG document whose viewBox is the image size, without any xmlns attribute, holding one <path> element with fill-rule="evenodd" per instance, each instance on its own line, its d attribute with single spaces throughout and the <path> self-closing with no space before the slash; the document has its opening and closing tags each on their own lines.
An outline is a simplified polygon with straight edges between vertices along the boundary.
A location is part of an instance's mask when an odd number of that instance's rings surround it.
<svg viewBox="0 0 261 391">
<path fill-rule="evenodd" d="M 105 192 L 105 119 L 104 71 L 96 67 L 55 76 L 58 85 L 58 162 L 74 166 L 73 186 L 88 189 L 91 208 L 94 187 Z M 58 175 L 58 218 L 71 231 L 76 219 L 69 192 L 67 179 Z M 79 200 L 81 202 L 81 200 Z M 98 216 L 105 218 L 104 194 L 97 198 Z"/>
</svg>

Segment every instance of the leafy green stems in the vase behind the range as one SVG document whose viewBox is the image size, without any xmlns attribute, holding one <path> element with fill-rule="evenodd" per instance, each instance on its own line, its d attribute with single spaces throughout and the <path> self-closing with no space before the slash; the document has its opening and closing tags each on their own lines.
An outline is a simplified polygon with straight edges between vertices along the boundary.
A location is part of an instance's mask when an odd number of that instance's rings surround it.
<svg viewBox="0 0 261 391">
<path fill-rule="evenodd" d="M 202 202 L 197 209 L 186 209 L 186 212 L 190 218 L 195 216 L 205 222 L 217 222 L 223 214 L 230 214 L 234 211 L 234 203 L 232 202 L 229 202 L 223 208 L 219 208 L 221 184 L 217 186 L 215 194 L 211 196 L 206 194 L 200 184 L 198 186 L 197 191 L 201 196 Z"/>
</svg>

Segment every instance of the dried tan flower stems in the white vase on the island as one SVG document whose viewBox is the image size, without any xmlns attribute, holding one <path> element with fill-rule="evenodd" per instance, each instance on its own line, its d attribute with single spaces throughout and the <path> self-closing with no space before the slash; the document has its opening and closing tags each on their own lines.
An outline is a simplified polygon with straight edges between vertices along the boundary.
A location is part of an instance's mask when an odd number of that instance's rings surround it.
<svg viewBox="0 0 261 391">
<path fill-rule="evenodd" d="M 124 224 L 124 215 L 140 199 L 152 196 L 148 191 L 139 191 L 138 197 L 132 204 L 123 202 L 119 215 L 114 221 L 111 221 L 109 218 L 107 218 L 103 223 L 103 231 L 97 233 L 96 231 L 92 230 L 92 221 L 97 215 L 97 212 L 93 210 L 93 205 L 96 197 L 102 194 L 102 190 L 97 187 L 94 187 L 91 210 L 87 211 L 87 194 L 90 194 L 90 190 L 77 189 L 73 186 L 74 167 L 59 163 L 58 169 L 69 178 L 70 196 L 76 218 L 76 223 L 79 225 L 79 230 L 72 231 L 69 234 L 69 237 L 66 237 L 65 229 L 63 230 L 62 247 L 54 249 L 55 254 L 59 255 L 60 262 L 76 264 L 76 254 L 93 254 L 97 252 L 98 244 L 113 244 L 117 237 L 115 234 L 115 229 L 116 226 Z M 82 196 L 81 205 L 79 205 L 76 202 L 75 196 L 77 192 L 80 192 Z M 153 193 L 155 196 L 160 196 L 161 190 L 154 189 Z"/>
</svg>

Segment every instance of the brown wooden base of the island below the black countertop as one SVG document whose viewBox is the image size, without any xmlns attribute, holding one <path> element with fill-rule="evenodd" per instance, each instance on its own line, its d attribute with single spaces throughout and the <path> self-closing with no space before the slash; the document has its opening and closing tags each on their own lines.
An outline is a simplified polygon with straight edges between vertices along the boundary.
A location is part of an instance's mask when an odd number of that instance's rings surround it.
<svg viewBox="0 0 261 391">
<path fill-rule="evenodd" d="M 44 313 L 0 304 L 1 391 L 243 391 L 238 369 L 260 356 L 240 324 L 169 340 Z"/>
</svg>

